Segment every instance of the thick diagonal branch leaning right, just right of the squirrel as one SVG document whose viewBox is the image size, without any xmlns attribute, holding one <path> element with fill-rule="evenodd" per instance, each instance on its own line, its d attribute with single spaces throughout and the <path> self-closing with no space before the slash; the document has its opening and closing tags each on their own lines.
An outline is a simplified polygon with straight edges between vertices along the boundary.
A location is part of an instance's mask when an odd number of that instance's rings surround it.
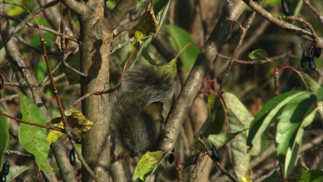
<svg viewBox="0 0 323 182">
<path fill-rule="evenodd" d="M 198 93 L 203 79 L 205 78 L 209 67 L 216 58 L 218 50 L 229 35 L 232 21 L 237 20 L 245 5 L 239 0 L 232 1 L 226 11 L 221 16 L 216 27 L 214 27 L 210 37 L 206 41 L 203 49 L 197 57 L 197 60 L 184 83 L 184 86 L 177 98 L 177 101 L 171 109 L 168 119 L 165 124 L 165 137 L 159 142 L 159 149 L 161 151 L 170 151 L 179 135 L 180 128 L 186 118 L 186 115 Z M 230 19 L 230 20 L 228 20 Z"/>
</svg>

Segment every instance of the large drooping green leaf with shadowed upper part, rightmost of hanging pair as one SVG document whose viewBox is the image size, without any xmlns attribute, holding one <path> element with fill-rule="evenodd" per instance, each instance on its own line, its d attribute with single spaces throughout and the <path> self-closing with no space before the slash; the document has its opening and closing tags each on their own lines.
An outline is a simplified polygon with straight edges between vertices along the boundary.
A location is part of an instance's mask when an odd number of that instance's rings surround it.
<svg viewBox="0 0 323 182">
<path fill-rule="evenodd" d="M 308 109 L 315 101 L 316 97 L 313 94 L 305 92 L 293 98 L 282 111 L 277 124 L 276 144 L 278 160 L 286 166 L 285 175 L 297 160 L 296 155 L 303 134 L 301 124 Z M 286 154 L 288 150 L 289 153 Z"/>
</svg>

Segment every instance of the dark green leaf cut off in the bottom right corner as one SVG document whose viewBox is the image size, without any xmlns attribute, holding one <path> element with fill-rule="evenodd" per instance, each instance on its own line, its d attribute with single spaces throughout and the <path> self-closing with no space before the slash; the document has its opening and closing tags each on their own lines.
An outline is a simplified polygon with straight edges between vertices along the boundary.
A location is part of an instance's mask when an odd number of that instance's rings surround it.
<svg viewBox="0 0 323 182">
<path fill-rule="evenodd" d="M 288 181 L 297 181 L 297 182 L 321 182 L 323 181 L 323 170 L 320 169 L 310 169 L 304 171 L 299 176 L 289 177 Z"/>
</svg>

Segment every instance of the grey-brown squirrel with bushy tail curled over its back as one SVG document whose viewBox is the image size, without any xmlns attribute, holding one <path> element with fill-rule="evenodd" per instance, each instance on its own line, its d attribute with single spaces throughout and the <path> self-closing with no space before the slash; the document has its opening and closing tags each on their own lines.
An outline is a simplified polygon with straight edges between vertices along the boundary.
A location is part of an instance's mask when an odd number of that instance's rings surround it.
<svg viewBox="0 0 323 182">
<path fill-rule="evenodd" d="M 117 160 L 156 149 L 175 88 L 174 76 L 160 66 L 141 63 L 126 72 L 110 107 L 112 134 L 122 148 Z"/>
</svg>

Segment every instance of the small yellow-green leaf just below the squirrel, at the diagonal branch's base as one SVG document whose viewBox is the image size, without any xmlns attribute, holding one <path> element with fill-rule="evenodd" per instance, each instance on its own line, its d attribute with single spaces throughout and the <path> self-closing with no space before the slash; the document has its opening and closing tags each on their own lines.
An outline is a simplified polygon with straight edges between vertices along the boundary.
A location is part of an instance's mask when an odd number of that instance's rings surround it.
<svg viewBox="0 0 323 182">
<path fill-rule="evenodd" d="M 136 166 L 133 180 L 137 180 L 138 178 L 144 180 L 157 167 L 161 159 L 163 159 L 164 154 L 166 153 L 163 151 L 146 152 Z"/>
</svg>

